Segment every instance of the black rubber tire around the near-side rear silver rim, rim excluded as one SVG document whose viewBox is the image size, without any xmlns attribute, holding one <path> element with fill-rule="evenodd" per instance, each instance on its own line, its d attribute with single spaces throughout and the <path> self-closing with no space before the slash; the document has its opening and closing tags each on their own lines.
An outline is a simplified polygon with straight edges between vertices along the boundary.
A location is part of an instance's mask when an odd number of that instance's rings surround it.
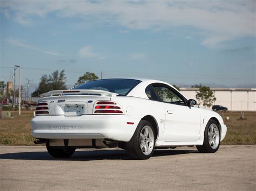
<svg viewBox="0 0 256 191">
<path fill-rule="evenodd" d="M 150 154 L 144 154 L 142 151 L 142 148 L 140 148 L 140 133 L 143 131 L 143 128 L 145 126 L 149 126 L 149 128 L 152 130 L 153 132 L 153 149 L 150 152 Z M 125 150 L 127 155 L 129 156 L 129 158 L 131 159 L 138 159 L 138 160 L 146 160 L 149 159 L 153 152 L 154 152 L 154 144 L 155 144 L 155 140 L 156 140 L 156 134 L 154 133 L 154 129 L 151 125 L 150 122 L 148 121 L 140 121 L 137 129 L 135 130 L 131 140 L 126 143 L 125 145 Z M 150 147 L 151 149 L 152 147 Z"/>
</svg>

